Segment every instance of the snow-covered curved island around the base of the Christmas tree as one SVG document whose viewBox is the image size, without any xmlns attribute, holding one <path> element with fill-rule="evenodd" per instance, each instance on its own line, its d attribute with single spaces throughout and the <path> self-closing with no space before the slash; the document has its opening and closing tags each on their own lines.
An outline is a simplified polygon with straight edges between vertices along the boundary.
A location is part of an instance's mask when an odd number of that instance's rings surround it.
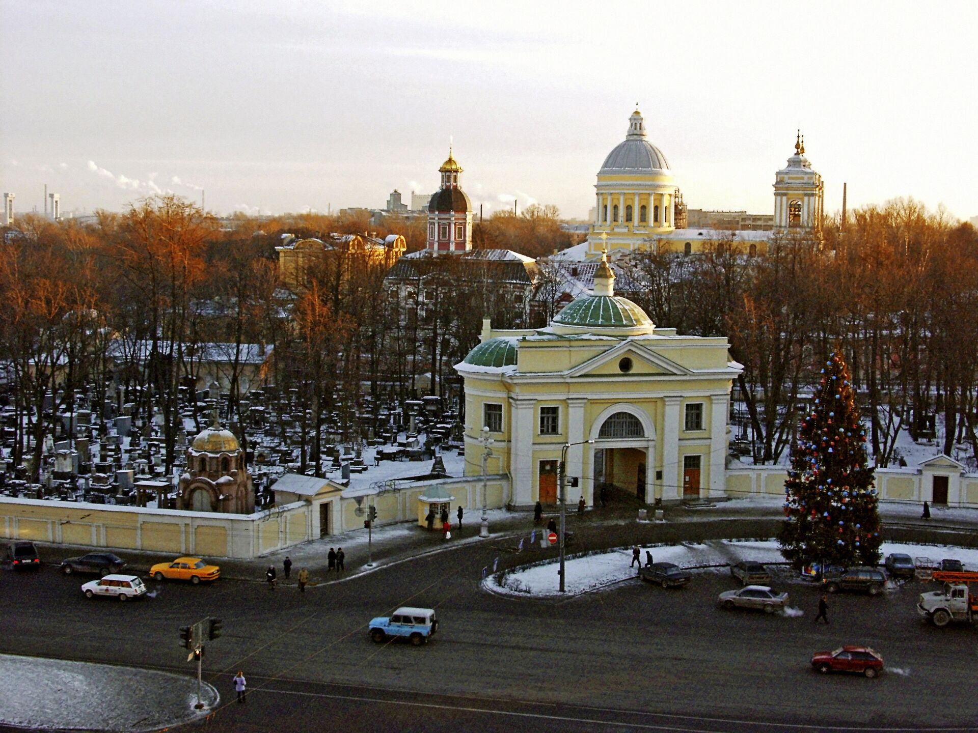
<svg viewBox="0 0 978 733">
<path fill-rule="evenodd" d="M 774 539 L 718 539 L 703 543 L 643 545 L 643 563 L 645 550 L 652 553 L 655 562 L 671 562 L 687 569 L 703 569 L 701 572 L 726 573 L 729 564 L 740 560 L 759 560 L 764 563 L 784 561 L 778 551 L 778 542 Z M 929 557 L 935 561 L 954 557 L 964 563 L 966 569 L 978 570 L 978 549 L 970 547 L 883 542 L 881 550 L 884 557 L 891 552 L 902 552 L 911 557 Z M 630 567 L 631 561 L 632 552 L 629 549 L 610 550 L 567 560 L 565 593 L 559 591 L 556 560 L 512 571 L 502 580 L 489 576 L 482 583 L 492 592 L 524 598 L 570 596 L 608 589 L 615 583 L 635 579 L 636 569 Z"/>
</svg>

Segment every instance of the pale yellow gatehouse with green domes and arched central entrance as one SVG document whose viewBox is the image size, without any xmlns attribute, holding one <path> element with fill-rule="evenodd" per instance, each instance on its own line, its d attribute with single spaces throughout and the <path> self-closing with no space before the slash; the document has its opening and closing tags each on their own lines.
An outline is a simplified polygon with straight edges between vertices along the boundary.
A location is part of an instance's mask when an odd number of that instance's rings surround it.
<svg viewBox="0 0 978 733">
<path fill-rule="evenodd" d="M 602 486 L 646 503 L 724 496 L 730 391 L 742 367 L 726 338 L 657 328 L 615 296 L 614 277 L 602 253 L 594 294 L 538 330 L 486 322 L 455 367 L 465 381 L 467 475 L 490 451 L 485 470 L 509 475 L 514 508 L 556 501 L 565 447 L 567 476 L 579 479 L 571 503 L 593 504 Z"/>
</svg>

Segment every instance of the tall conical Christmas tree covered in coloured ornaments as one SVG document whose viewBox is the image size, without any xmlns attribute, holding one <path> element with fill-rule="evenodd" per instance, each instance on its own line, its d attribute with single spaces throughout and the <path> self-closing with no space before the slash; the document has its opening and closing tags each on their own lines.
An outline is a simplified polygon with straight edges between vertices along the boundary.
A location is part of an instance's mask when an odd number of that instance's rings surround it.
<svg viewBox="0 0 978 733">
<path fill-rule="evenodd" d="M 811 410 L 791 446 L 784 482 L 781 554 L 795 567 L 879 562 L 879 514 L 866 430 L 854 401 L 849 368 L 832 354 Z"/>
</svg>

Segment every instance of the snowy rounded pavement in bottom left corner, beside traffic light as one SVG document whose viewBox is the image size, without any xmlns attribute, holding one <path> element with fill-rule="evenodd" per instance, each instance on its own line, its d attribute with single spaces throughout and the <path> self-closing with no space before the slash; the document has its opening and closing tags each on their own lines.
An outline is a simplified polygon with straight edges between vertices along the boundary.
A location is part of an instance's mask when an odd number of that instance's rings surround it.
<svg viewBox="0 0 978 733">
<path fill-rule="evenodd" d="M 197 677 L 87 662 L 0 654 L 0 722 L 30 730 L 139 733 L 206 715 L 220 696 Z"/>
</svg>

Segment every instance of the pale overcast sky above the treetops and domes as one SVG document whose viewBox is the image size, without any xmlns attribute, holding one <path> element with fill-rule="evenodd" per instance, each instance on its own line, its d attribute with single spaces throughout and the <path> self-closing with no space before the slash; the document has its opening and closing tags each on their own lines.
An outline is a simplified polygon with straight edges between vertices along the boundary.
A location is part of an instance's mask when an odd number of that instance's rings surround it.
<svg viewBox="0 0 978 733">
<path fill-rule="evenodd" d="M 978 215 L 978 3 L 0 0 L 16 209 L 173 191 L 217 213 L 382 207 L 448 153 L 486 211 L 594 205 L 636 103 L 690 208 L 773 210 L 795 129 L 825 210 Z M 505 202 L 505 203 L 504 203 Z"/>
</svg>

